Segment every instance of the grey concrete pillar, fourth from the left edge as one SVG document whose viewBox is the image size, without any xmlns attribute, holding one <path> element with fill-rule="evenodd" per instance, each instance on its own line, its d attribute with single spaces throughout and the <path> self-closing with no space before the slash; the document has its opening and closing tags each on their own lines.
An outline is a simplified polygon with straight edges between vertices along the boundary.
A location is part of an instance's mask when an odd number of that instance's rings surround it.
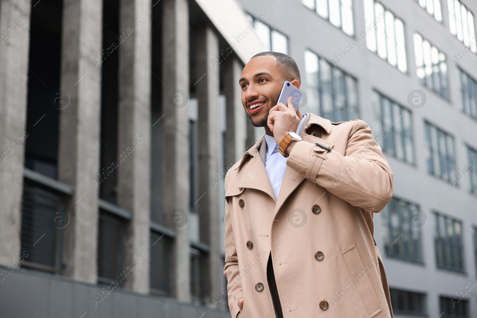
<svg viewBox="0 0 477 318">
<path fill-rule="evenodd" d="M 187 226 L 171 222 L 189 209 L 189 5 L 162 0 L 163 194 L 165 224 L 176 229 L 173 296 L 190 301 L 190 240 Z M 180 210 L 176 210 L 180 209 Z"/>
</svg>

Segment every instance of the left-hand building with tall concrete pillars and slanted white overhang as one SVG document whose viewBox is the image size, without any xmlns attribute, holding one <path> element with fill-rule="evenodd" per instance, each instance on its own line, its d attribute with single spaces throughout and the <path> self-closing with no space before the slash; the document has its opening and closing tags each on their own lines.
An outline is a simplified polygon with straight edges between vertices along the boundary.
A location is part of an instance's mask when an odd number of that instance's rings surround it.
<svg viewBox="0 0 477 318">
<path fill-rule="evenodd" d="M 0 4 L 0 316 L 229 317 L 223 179 L 253 141 L 238 80 L 261 20 Z"/>
</svg>

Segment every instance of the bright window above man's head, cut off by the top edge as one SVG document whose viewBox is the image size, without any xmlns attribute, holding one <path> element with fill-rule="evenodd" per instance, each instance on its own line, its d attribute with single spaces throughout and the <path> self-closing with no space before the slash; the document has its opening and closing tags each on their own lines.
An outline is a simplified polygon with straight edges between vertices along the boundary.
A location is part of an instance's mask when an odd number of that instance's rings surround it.
<svg viewBox="0 0 477 318">
<path fill-rule="evenodd" d="M 316 11 L 321 18 L 330 21 L 344 33 L 353 36 L 353 2 L 352 0 L 301 0 L 310 10 Z"/>
</svg>

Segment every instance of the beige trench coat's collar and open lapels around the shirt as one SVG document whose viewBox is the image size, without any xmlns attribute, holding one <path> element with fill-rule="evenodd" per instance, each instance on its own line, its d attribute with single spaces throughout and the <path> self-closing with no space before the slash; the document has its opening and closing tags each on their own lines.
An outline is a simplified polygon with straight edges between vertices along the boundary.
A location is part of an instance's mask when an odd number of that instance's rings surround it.
<svg viewBox="0 0 477 318">
<path fill-rule="evenodd" d="M 312 113 L 305 113 L 305 116 L 305 121 L 299 132 L 300 136 L 309 126 L 311 126 L 311 124 L 318 124 L 323 127 L 327 133 L 331 132 L 332 124 L 329 120 Z M 235 167 L 235 170 L 237 170 L 245 164 L 244 168 L 239 171 L 239 183 L 237 184 L 237 187 L 257 189 L 270 195 L 276 203 L 274 211 L 274 214 L 276 214 L 283 202 L 285 202 L 293 190 L 295 190 L 305 179 L 305 176 L 297 173 L 292 168 L 287 167 L 285 175 L 283 176 L 278 198 L 276 198 L 267 170 L 265 169 L 265 151 L 265 135 L 262 135 L 257 143 L 245 152 L 242 161 Z M 250 158 L 250 160 L 247 161 L 247 158 Z"/>
</svg>

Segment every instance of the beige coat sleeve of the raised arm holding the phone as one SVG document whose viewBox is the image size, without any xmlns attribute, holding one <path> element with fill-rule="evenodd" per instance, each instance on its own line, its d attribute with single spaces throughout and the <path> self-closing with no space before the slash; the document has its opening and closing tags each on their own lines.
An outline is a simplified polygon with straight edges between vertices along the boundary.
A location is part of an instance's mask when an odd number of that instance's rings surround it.
<svg viewBox="0 0 477 318">
<path fill-rule="evenodd" d="M 369 126 L 354 123 L 344 156 L 303 139 L 291 149 L 287 165 L 351 205 L 380 212 L 393 196 L 393 173 Z M 318 137 L 312 140 L 332 146 Z"/>
</svg>

